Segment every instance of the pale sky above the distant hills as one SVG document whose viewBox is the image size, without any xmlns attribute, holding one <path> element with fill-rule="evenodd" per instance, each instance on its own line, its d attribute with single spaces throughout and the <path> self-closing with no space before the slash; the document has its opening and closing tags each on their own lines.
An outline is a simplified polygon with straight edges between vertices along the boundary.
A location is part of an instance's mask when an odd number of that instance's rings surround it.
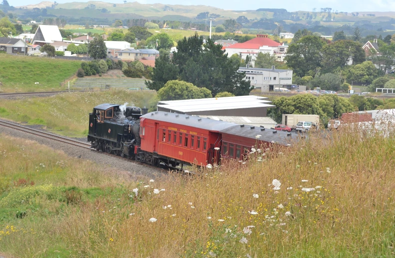
<svg viewBox="0 0 395 258">
<path fill-rule="evenodd" d="M 41 0 L 8 0 L 10 5 L 20 6 L 39 3 Z M 50 0 L 52 1 L 52 0 Z M 87 0 L 57 0 L 59 3 Z M 128 0 L 133 1 L 133 0 Z M 108 0 L 108 2 L 121 3 L 123 0 Z M 285 8 L 288 11 L 308 10 L 313 8 L 330 7 L 338 11 L 395 11 L 395 0 L 281 0 L 281 1 L 262 1 L 262 0 L 139 0 L 140 3 L 163 4 L 185 4 L 185 5 L 211 5 L 223 9 L 232 10 L 256 10 L 258 8 Z"/>
</svg>

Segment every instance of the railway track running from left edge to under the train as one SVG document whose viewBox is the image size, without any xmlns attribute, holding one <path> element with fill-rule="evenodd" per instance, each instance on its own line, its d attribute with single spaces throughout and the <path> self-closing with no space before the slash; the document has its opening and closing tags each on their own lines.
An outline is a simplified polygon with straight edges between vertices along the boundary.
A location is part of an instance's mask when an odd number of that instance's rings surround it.
<svg viewBox="0 0 395 258">
<path fill-rule="evenodd" d="M 35 136 L 40 136 L 40 137 L 43 137 L 43 138 L 46 138 L 46 139 L 58 141 L 58 142 L 65 143 L 65 144 L 68 144 L 68 145 L 84 148 L 84 149 L 90 150 L 92 152 L 99 152 L 102 155 L 106 155 L 106 156 L 109 156 L 109 157 L 121 159 L 121 160 L 124 160 L 124 161 L 128 161 L 128 162 L 131 162 L 131 163 L 134 163 L 134 164 L 138 164 L 138 165 L 144 166 L 144 167 L 149 167 L 152 170 L 157 170 L 157 171 L 160 171 L 160 172 L 167 171 L 167 170 L 164 170 L 164 169 L 161 169 L 161 168 L 157 168 L 157 167 L 153 167 L 153 166 L 150 166 L 148 164 L 144 164 L 144 163 L 141 163 L 141 162 L 138 162 L 138 161 L 134 161 L 134 160 L 131 160 L 131 159 L 125 159 L 125 158 L 122 158 L 120 156 L 116 156 L 116 155 L 109 154 L 109 153 L 106 153 L 106 152 L 96 151 L 96 150 L 91 148 L 89 143 L 80 142 L 80 141 L 72 140 L 72 139 L 69 139 L 69 138 L 66 138 L 66 137 L 63 137 L 63 136 L 55 135 L 55 134 L 52 134 L 52 133 L 40 131 L 40 130 L 37 130 L 37 129 L 28 128 L 28 127 L 25 127 L 25 126 L 22 126 L 22 125 L 18 125 L 18 124 L 9 122 L 9 121 L 0 120 L 0 126 L 7 127 L 7 128 L 12 129 L 12 130 L 17 130 L 17 131 L 20 131 L 20 132 L 32 134 L 32 135 L 35 135 Z"/>
</svg>

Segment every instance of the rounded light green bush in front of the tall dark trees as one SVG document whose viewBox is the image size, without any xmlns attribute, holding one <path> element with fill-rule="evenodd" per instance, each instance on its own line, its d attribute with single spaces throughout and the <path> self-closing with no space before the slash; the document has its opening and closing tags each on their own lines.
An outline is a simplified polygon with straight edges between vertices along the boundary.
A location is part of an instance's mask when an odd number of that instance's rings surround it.
<svg viewBox="0 0 395 258">
<path fill-rule="evenodd" d="M 210 98 L 211 92 L 186 81 L 171 80 L 158 91 L 159 100 Z"/>
</svg>

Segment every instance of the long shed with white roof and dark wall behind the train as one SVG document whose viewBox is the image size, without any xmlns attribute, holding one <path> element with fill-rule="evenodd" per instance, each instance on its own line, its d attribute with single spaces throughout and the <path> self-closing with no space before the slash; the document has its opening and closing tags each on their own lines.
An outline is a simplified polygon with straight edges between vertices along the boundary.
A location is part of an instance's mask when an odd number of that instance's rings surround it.
<svg viewBox="0 0 395 258">
<path fill-rule="evenodd" d="M 265 117 L 267 109 L 275 107 L 271 103 L 266 97 L 251 95 L 159 101 L 157 110 L 189 115 Z"/>
</svg>

